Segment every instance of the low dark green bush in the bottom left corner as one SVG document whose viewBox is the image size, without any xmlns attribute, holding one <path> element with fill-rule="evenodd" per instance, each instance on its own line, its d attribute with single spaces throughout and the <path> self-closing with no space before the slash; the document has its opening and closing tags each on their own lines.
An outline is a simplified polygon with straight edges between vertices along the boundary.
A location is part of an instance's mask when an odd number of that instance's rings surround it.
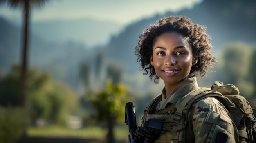
<svg viewBox="0 0 256 143">
<path fill-rule="evenodd" d="M 0 143 L 15 143 L 24 132 L 24 109 L 0 106 Z"/>
</svg>

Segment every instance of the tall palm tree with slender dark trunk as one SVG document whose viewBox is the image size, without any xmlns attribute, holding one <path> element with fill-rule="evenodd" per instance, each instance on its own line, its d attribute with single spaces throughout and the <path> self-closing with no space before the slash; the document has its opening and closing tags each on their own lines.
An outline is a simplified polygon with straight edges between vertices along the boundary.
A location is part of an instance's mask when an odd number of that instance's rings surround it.
<svg viewBox="0 0 256 143">
<path fill-rule="evenodd" d="M 0 0 L 0 3 L 5 3 L 11 8 L 22 8 L 23 9 L 23 45 L 22 45 L 22 56 L 21 56 L 21 74 L 20 74 L 20 96 L 21 105 L 26 105 L 26 89 L 27 89 L 27 53 L 28 53 L 28 42 L 29 42 L 29 19 L 31 6 L 40 7 L 47 0 Z"/>
</svg>

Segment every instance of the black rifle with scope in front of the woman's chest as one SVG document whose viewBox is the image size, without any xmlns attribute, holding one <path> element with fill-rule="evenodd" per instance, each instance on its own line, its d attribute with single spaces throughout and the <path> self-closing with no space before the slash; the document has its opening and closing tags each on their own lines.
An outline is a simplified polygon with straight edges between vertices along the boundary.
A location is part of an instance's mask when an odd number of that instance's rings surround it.
<svg viewBox="0 0 256 143">
<path fill-rule="evenodd" d="M 150 118 L 144 121 L 143 127 L 137 127 L 135 105 L 132 102 L 128 102 L 125 105 L 124 123 L 126 123 L 129 128 L 129 143 L 153 143 L 153 141 L 160 136 L 163 126 L 162 120 Z"/>
</svg>

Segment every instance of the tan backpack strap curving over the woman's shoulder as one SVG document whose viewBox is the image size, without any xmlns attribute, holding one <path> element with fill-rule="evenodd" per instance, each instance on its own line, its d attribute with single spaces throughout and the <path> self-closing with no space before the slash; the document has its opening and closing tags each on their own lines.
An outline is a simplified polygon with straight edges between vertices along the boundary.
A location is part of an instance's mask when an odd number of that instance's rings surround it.
<svg viewBox="0 0 256 143">
<path fill-rule="evenodd" d="M 210 97 L 210 96 L 222 96 L 222 94 L 210 94 L 213 93 L 211 88 L 197 88 L 186 94 L 182 99 L 176 103 L 176 112 L 174 113 L 173 120 L 179 122 L 182 117 L 182 112 L 185 108 L 190 108 L 195 100 Z M 218 92 L 217 92 L 218 93 Z"/>
</svg>

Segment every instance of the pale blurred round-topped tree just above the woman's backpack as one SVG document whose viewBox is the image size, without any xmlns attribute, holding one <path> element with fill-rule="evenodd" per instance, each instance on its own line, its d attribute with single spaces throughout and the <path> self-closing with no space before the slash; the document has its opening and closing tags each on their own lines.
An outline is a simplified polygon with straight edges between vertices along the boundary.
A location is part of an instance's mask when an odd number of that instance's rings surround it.
<svg viewBox="0 0 256 143">
<path fill-rule="evenodd" d="M 252 48 L 242 42 L 233 42 L 223 48 L 223 57 L 218 63 L 220 66 L 217 75 L 221 78 L 220 81 L 225 84 L 234 84 L 240 88 L 241 95 L 249 99 L 252 97 L 252 92 L 255 83 L 251 82 L 251 75 L 248 74 L 251 64 L 254 63 L 251 59 Z"/>
</svg>

